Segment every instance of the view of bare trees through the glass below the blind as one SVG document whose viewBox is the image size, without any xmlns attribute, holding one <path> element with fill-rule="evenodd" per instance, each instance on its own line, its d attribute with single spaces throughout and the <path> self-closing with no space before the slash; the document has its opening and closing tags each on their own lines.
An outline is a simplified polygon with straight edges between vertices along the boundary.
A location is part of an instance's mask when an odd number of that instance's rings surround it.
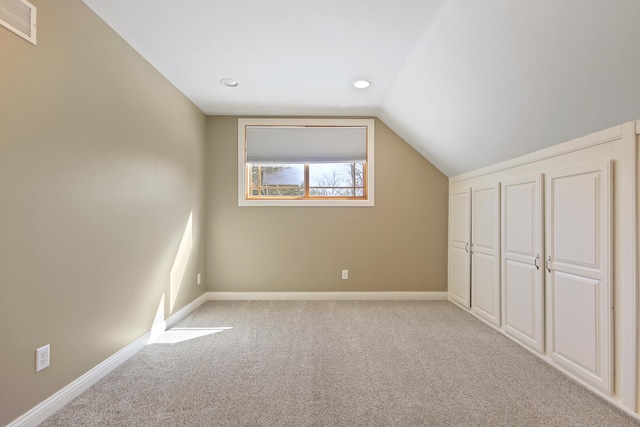
<svg viewBox="0 0 640 427">
<path fill-rule="evenodd" d="M 365 196 L 364 163 L 250 165 L 250 174 L 251 198 Z"/>
</svg>

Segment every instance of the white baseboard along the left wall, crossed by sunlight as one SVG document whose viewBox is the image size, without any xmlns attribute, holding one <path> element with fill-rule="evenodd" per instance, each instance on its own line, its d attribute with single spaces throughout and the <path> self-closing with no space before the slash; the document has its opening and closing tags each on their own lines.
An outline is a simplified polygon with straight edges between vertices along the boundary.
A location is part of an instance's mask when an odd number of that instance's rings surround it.
<svg viewBox="0 0 640 427">
<path fill-rule="evenodd" d="M 191 303 L 187 304 L 185 307 L 169 316 L 166 321 L 161 322 L 161 324 L 165 324 L 167 329 L 171 328 L 207 300 L 207 294 L 200 295 Z M 127 345 L 122 350 L 118 351 L 116 354 L 109 357 L 104 362 L 100 363 L 98 366 L 94 367 L 68 386 L 56 392 L 53 396 L 40 403 L 38 406 L 32 408 L 30 411 L 26 412 L 19 418 L 13 420 L 7 425 L 7 427 L 35 427 L 49 418 L 56 411 L 58 411 L 67 403 L 71 402 L 73 399 L 82 394 L 82 392 L 84 392 L 86 389 L 100 381 L 108 373 L 116 369 L 137 352 L 142 350 L 145 345 L 153 342 L 153 338 L 157 336 L 159 328 L 157 326 L 154 326 L 153 329 L 153 333 L 152 331 L 149 331 L 140 338 L 136 339 L 131 344 Z"/>
</svg>

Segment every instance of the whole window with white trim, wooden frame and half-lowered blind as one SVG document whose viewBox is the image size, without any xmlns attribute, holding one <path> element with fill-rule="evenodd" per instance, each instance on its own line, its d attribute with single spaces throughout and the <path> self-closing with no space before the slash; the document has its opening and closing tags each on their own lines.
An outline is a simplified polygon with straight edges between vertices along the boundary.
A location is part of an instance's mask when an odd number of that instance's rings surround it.
<svg viewBox="0 0 640 427">
<path fill-rule="evenodd" d="M 239 119 L 238 205 L 373 206 L 371 119 Z"/>
</svg>

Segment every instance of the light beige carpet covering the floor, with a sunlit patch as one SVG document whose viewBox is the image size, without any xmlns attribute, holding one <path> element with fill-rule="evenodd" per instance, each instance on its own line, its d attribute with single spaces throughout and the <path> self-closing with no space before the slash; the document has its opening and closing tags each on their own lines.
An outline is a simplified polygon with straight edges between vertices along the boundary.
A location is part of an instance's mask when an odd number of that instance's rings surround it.
<svg viewBox="0 0 640 427">
<path fill-rule="evenodd" d="M 640 425 L 445 301 L 208 302 L 162 341 L 42 425 Z"/>
</svg>

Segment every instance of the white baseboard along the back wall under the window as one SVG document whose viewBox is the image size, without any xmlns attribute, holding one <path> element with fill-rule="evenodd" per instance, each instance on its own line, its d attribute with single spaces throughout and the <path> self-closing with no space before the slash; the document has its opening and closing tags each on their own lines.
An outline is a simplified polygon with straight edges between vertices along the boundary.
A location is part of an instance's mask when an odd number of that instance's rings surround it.
<svg viewBox="0 0 640 427">
<path fill-rule="evenodd" d="M 207 292 L 210 301 L 288 300 L 288 301 L 330 301 L 330 300 L 421 300 L 445 301 L 446 291 L 398 291 L 398 292 Z"/>
</svg>

